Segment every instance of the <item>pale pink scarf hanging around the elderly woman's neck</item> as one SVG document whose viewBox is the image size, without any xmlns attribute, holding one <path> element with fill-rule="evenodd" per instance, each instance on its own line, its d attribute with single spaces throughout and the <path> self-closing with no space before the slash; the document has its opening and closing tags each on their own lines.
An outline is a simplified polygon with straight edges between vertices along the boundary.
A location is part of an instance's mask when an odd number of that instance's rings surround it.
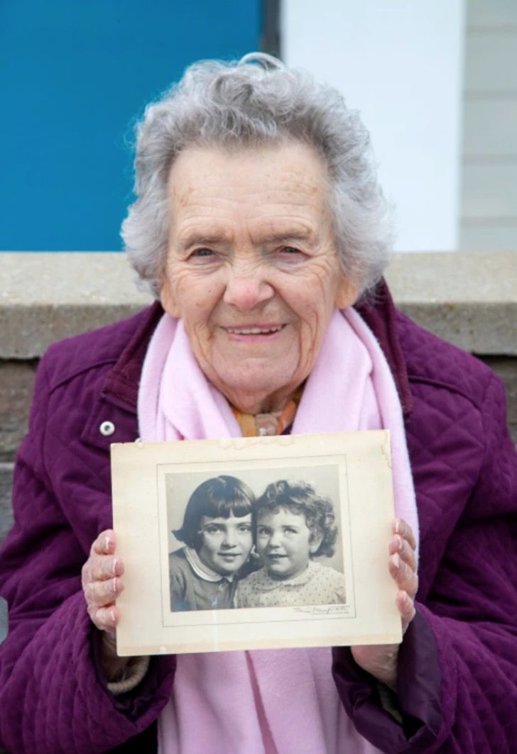
<svg viewBox="0 0 517 754">
<path fill-rule="evenodd" d="M 183 323 L 168 314 L 158 323 L 143 364 L 138 420 L 140 437 L 147 442 L 241 436 L 226 398 L 199 368 Z M 292 432 L 380 428 L 391 434 L 395 513 L 418 537 L 395 382 L 359 314 L 352 308 L 335 311 Z M 174 691 L 158 720 L 158 750 L 160 754 L 377 752 L 355 731 L 340 703 L 330 648 L 178 655 Z"/>
</svg>

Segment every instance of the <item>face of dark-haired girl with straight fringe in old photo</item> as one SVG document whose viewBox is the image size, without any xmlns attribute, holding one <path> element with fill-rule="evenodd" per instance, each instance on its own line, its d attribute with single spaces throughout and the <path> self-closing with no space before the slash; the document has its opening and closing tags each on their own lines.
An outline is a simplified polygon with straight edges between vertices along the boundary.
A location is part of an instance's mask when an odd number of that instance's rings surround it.
<svg viewBox="0 0 517 754">
<path fill-rule="evenodd" d="M 202 516 L 199 533 L 202 536 L 202 546 L 197 550 L 199 558 L 223 576 L 238 571 L 251 553 L 251 513 L 228 518 Z"/>
</svg>

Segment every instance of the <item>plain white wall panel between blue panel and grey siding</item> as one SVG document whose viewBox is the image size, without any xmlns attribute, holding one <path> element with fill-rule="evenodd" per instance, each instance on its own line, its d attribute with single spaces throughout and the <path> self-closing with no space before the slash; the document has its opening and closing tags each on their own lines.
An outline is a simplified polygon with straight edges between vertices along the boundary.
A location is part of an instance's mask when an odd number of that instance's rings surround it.
<svg viewBox="0 0 517 754">
<path fill-rule="evenodd" d="M 283 0 L 282 57 L 359 109 L 398 250 L 458 246 L 464 0 Z"/>
</svg>

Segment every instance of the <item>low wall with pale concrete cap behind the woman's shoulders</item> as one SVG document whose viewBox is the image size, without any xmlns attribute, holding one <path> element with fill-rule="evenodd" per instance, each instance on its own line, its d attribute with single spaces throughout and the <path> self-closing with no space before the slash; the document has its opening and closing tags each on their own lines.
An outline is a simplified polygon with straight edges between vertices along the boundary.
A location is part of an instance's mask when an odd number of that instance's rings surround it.
<svg viewBox="0 0 517 754">
<path fill-rule="evenodd" d="M 38 358 L 51 342 L 149 303 L 117 253 L 0 255 L 0 541 L 11 526 L 14 453 L 26 431 Z M 418 323 L 478 354 L 506 383 L 517 441 L 517 252 L 404 253 L 388 281 Z"/>
</svg>

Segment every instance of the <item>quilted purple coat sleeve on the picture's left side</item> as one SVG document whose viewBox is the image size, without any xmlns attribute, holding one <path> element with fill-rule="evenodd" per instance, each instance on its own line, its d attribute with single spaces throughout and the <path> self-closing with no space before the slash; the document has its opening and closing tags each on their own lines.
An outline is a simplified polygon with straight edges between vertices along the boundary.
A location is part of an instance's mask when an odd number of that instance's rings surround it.
<svg viewBox="0 0 517 754">
<path fill-rule="evenodd" d="M 14 529 L 0 551 L 0 594 L 10 611 L 0 647 L 0 748 L 95 754 L 156 719 L 171 693 L 174 658 L 152 659 L 130 693 L 108 691 L 80 583 L 87 554 L 45 468 L 47 406 L 44 358 L 15 467 Z"/>
</svg>

